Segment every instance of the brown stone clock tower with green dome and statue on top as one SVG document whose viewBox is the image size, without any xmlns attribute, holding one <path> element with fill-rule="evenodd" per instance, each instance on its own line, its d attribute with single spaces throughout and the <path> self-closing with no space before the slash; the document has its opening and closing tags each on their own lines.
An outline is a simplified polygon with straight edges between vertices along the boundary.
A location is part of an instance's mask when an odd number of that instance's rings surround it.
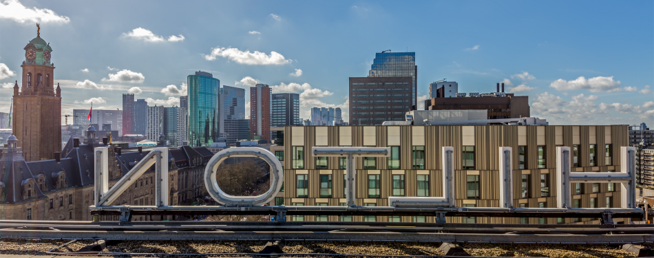
<svg viewBox="0 0 654 258">
<path fill-rule="evenodd" d="M 54 88 L 52 47 L 41 39 L 40 30 L 23 48 L 20 91 L 18 82 L 14 85 L 12 131 L 25 161 L 51 160 L 61 152 L 61 88 Z"/>
</svg>

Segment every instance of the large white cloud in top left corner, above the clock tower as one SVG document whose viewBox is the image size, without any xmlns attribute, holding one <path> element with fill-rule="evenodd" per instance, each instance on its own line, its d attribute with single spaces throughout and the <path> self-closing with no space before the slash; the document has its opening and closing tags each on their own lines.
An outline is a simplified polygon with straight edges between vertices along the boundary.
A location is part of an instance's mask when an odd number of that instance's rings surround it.
<svg viewBox="0 0 654 258">
<path fill-rule="evenodd" d="M 18 23 L 68 23 L 70 18 L 60 16 L 50 9 L 27 8 L 18 0 L 0 2 L 0 19 Z"/>
</svg>

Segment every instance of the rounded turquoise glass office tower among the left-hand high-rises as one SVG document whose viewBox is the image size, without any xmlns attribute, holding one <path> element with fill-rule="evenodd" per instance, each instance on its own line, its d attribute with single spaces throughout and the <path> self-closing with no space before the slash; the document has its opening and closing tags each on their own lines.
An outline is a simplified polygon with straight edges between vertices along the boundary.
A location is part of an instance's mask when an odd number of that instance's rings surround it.
<svg viewBox="0 0 654 258">
<path fill-rule="evenodd" d="M 187 76 L 189 85 L 189 146 L 209 146 L 218 137 L 220 80 L 208 72 Z"/>
</svg>

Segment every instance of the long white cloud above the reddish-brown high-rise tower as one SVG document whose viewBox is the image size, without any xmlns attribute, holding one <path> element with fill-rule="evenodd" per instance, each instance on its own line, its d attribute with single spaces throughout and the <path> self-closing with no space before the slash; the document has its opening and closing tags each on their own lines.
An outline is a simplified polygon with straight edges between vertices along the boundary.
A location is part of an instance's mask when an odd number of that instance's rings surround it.
<svg viewBox="0 0 654 258">
<path fill-rule="evenodd" d="M 229 60 L 236 63 L 244 65 L 285 65 L 291 63 L 291 60 L 284 59 L 282 54 L 272 51 L 270 55 L 264 52 L 255 51 L 253 53 L 250 50 L 241 51 L 238 48 L 225 48 L 225 47 L 214 47 L 211 49 L 211 54 L 202 54 L 204 59 L 208 61 L 213 61 L 218 56 L 229 58 Z"/>
</svg>

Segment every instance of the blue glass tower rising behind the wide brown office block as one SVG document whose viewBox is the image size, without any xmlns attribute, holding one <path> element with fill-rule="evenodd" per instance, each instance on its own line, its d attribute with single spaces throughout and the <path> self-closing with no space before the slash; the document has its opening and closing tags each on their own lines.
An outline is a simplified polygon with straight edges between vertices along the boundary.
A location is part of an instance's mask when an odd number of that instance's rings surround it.
<svg viewBox="0 0 654 258">
<path fill-rule="evenodd" d="M 416 109 L 418 100 L 418 87 L 416 80 L 418 78 L 418 66 L 416 65 L 415 52 L 398 52 L 398 53 L 377 53 L 375 60 L 372 61 L 372 67 L 368 77 L 397 77 L 397 76 L 411 76 L 413 77 L 413 85 L 411 85 L 411 99 L 413 109 Z"/>
</svg>

